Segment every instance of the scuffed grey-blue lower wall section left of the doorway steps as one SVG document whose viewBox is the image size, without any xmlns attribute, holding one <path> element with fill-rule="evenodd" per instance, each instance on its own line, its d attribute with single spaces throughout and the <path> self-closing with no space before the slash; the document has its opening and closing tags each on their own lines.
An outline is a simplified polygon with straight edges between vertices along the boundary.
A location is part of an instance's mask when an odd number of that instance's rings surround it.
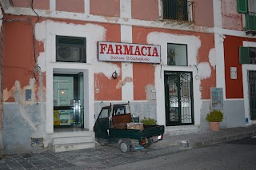
<svg viewBox="0 0 256 170">
<path fill-rule="evenodd" d="M 40 105 L 18 105 L 17 103 L 5 103 L 3 106 L 4 131 L 3 131 L 3 152 L 6 154 L 22 152 L 42 152 L 44 148 L 31 146 L 31 134 L 37 132 L 42 125 Z M 44 106 L 45 107 L 45 106 Z M 22 113 L 21 113 L 22 112 Z M 20 114 L 21 113 L 21 114 Z M 22 114 L 26 113 L 26 119 Z M 40 136 L 42 137 L 42 136 Z"/>
</svg>

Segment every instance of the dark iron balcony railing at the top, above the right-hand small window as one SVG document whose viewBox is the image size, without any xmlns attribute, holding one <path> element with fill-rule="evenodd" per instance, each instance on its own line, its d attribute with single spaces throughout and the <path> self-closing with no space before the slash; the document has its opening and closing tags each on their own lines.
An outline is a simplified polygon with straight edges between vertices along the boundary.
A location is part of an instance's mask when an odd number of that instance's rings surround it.
<svg viewBox="0 0 256 170">
<path fill-rule="evenodd" d="M 194 22 L 194 2 L 162 0 L 163 19 Z"/>
</svg>

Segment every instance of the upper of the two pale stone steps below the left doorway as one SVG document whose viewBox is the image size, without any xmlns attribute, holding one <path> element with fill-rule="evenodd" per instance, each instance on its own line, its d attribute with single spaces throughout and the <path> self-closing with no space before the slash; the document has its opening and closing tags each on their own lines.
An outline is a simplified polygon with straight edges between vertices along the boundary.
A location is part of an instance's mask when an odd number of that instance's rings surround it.
<svg viewBox="0 0 256 170">
<path fill-rule="evenodd" d="M 85 142 L 94 142 L 94 136 L 70 136 L 53 138 L 53 144 L 79 144 Z"/>
</svg>

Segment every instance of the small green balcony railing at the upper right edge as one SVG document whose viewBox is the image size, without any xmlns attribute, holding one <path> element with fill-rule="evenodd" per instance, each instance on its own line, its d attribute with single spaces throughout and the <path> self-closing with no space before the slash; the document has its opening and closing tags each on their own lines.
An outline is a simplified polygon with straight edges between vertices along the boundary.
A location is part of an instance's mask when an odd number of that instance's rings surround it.
<svg viewBox="0 0 256 170">
<path fill-rule="evenodd" d="M 256 34 L 256 13 L 246 14 L 246 34 Z"/>
</svg>

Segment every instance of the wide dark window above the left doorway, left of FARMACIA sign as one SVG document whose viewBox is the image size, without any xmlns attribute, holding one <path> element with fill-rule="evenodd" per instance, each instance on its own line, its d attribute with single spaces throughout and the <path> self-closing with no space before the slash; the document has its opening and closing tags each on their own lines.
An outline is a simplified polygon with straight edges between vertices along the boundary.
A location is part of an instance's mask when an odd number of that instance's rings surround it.
<svg viewBox="0 0 256 170">
<path fill-rule="evenodd" d="M 56 37 L 56 61 L 86 62 L 86 38 Z"/>
</svg>

